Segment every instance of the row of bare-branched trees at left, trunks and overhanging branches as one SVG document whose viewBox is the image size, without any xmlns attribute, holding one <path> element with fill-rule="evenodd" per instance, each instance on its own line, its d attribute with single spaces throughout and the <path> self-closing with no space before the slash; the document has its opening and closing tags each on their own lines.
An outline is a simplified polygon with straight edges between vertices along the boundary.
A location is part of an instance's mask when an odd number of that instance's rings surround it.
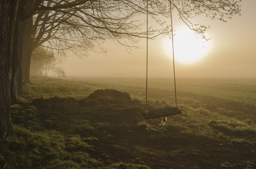
<svg viewBox="0 0 256 169">
<path fill-rule="evenodd" d="M 127 50 L 146 37 L 144 21 L 136 19 L 148 12 L 161 28 L 149 27 L 149 38 L 169 35 L 171 25 L 160 18 L 172 10 L 196 33 L 209 28 L 193 24 L 191 18 L 205 15 L 226 21 L 240 14 L 241 0 L 0 0 L 0 136 L 13 133 L 11 102 L 17 91 L 29 83 L 32 55 L 39 50 L 45 57 L 61 60 L 66 52 L 78 57 L 88 51 L 104 52 L 107 39 L 124 45 Z M 43 48 L 42 48 L 43 47 Z M 39 56 L 39 55 L 38 55 Z M 50 59 L 51 60 L 51 59 Z M 41 74 L 47 74 L 47 62 Z"/>
</svg>

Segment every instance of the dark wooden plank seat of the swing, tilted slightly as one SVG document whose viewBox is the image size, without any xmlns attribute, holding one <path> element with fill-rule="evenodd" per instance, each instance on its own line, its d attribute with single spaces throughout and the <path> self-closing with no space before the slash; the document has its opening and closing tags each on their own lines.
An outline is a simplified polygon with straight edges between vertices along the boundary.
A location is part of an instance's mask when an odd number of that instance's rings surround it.
<svg viewBox="0 0 256 169">
<path fill-rule="evenodd" d="M 145 116 L 145 119 L 155 119 L 159 117 L 164 117 L 164 116 L 171 116 L 175 114 L 180 114 L 181 111 L 178 110 L 176 107 L 170 107 L 167 109 L 161 109 L 161 110 L 153 110 L 153 111 L 148 111 L 146 113 L 142 113 L 142 115 Z"/>
</svg>

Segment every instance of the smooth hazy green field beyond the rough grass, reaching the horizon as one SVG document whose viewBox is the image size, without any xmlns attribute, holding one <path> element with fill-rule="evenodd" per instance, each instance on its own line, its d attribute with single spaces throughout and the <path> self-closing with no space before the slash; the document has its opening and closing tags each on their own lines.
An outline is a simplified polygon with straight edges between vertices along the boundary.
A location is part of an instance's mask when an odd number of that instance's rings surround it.
<svg viewBox="0 0 256 169">
<path fill-rule="evenodd" d="M 87 78 L 78 79 L 77 82 L 91 87 L 115 88 L 128 92 L 133 98 L 145 100 L 145 79 Z M 255 84 L 256 80 L 251 79 L 177 79 L 178 107 L 186 104 L 194 108 L 205 106 L 216 109 L 233 106 L 234 109 L 253 109 L 256 107 Z M 173 79 L 149 79 L 148 98 L 153 102 L 158 100 L 174 106 Z"/>
</svg>

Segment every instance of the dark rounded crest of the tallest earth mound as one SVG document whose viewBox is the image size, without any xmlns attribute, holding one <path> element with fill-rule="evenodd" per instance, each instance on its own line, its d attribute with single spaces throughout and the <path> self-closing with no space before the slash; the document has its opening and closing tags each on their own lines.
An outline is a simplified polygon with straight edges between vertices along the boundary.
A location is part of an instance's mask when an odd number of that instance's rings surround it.
<svg viewBox="0 0 256 169">
<path fill-rule="evenodd" d="M 99 89 L 95 90 L 92 94 L 90 94 L 87 98 L 99 98 L 99 97 L 113 97 L 115 99 L 120 100 L 131 100 L 131 97 L 126 92 L 121 92 L 115 89 Z"/>
</svg>

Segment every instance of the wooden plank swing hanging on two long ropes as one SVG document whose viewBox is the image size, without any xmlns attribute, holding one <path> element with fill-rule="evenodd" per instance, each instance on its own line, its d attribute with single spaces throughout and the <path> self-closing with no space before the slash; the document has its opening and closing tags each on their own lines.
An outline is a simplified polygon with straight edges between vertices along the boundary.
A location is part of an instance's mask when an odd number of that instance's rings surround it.
<svg viewBox="0 0 256 169">
<path fill-rule="evenodd" d="M 165 117 L 175 114 L 180 114 L 181 111 L 177 107 L 177 95 L 176 95 L 176 80 L 175 80 L 175 67 L 174 67 L 174 45 L 173 45 L 173 26 L 172 26 L 172 12 L 171 12 L 171 1 L 170 1 L 170 15 L 171 15 L 171 36 L 172 36 L 172 57 L 173 57 L 173 73 L 174 73 L 174 88 L 175 88 L 175 104 L 176 107 L 170 107 L 167 109 L 148 111 L 147 110 L 147 85 L 148 85 L 148 0 L 147 0 L 147 61 L 146 61 L 146 111 L 142 113 L 145 119 L 154 119 L 159 117 Z"/>
</svg>

